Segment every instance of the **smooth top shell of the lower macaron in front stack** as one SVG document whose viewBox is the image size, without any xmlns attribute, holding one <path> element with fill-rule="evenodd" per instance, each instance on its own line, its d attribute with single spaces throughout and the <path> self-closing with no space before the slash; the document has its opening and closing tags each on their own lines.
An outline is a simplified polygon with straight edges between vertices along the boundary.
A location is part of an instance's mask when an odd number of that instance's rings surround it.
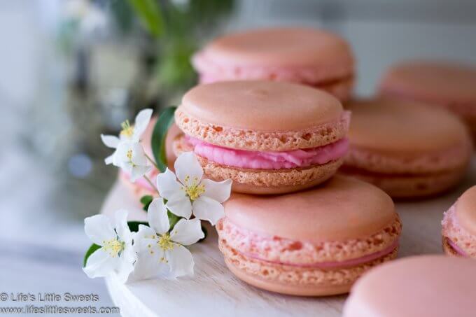
<svg viewBox="0 0 476 317">
<path fill-rule="evenodd" d="M 385 192 L 344 176 L 288 195 L 233 194 L 225 203 L 225 215 L 258 234 L 309 242 L 368 237 L 395 220 L 392 199 Z"/>
</svg>

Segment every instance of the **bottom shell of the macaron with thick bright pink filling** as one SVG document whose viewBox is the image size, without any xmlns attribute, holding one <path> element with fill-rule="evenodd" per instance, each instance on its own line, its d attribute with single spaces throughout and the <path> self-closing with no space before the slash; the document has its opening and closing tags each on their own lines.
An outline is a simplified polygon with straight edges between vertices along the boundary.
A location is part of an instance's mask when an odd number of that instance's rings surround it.
<svg viewBox="0 0 476 317">
<path fill-rule="evenodd" d="M 188 151 L 193 151 L 193 147 L 186 142 L 184 136 L 177 136 L 174 141 L 175 155 L 179 156 Z M 197 159 L 208 178 L 216 181 L 231 179 L 234 192 L 259 195 L 296 192 L 314 187 L 332 177 L 344 160 L 340 158 L 326 164 L 314 164 L 309 167 L 265 170 L 229 167 L 211 162 L 200 155 L 197 155 Z"/>
</svg>

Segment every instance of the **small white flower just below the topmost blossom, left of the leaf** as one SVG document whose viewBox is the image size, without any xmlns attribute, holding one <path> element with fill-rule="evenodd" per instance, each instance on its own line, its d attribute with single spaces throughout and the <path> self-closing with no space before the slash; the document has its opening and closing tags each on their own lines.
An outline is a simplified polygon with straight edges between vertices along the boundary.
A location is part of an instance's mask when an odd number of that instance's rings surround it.
<svg viewBox="0 0 476 317">
<path fill-rule="evenodd" d="M 129 174 L 132 183 L 152 169 L 141 144 L 128 141 L 119 143 L 113 155 L 113 164 Z"/>
</svg>

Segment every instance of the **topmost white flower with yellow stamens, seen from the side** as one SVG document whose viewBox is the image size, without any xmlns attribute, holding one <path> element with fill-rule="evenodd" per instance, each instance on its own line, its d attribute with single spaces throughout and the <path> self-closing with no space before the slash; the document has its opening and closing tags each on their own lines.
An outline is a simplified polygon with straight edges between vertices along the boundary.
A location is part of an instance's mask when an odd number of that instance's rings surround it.
<svg viewBox="0 0 476 317">
<path fill-rule="evenodd" d="M 139 143 L 141 141 L 142 134 L 144 134 L 144 131 L 146 131 L 146 128 L 151 121 L 151 116 L 152 109 L 144 109 L 140 111 L 137 113 L 135 125 L 130 125 L 129 120 L 125 120 L 125 122 L 123 122 L 121 125 L 123 129 L 121 130 L 119 137 L 101 134 L 102 142 L 109 148 L 118 148 L 119 144 L 123 143 L 124 141 Z M 104 162 L 106 162 L 106 164 L 113 164 L 116 152 L 117 151 L 115 151 L 109 157 L 106 157 Z"/>
</svg>

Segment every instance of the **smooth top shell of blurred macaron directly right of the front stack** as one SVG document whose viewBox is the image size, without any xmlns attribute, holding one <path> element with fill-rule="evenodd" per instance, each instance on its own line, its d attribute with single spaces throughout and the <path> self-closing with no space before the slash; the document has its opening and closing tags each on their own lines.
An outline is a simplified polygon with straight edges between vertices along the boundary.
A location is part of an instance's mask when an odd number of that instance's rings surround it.
<svg viewBox="0 0 476 317">
<path fill-rule="evenodd" d="M 468 141 L 468 132 L 455 115 L 410 101 L 370 99 L 351 101 L 349 140 L 352 146 L 381 152 L 444 151 Z"/>
</svg>

